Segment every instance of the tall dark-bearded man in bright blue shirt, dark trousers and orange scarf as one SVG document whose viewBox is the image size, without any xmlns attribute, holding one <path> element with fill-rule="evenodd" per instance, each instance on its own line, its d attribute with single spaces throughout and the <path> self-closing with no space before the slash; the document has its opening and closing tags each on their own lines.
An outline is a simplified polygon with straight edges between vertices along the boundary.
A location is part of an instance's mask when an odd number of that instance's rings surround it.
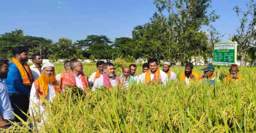
<svg viewBox="0 0 256 133">
<path fill-rule="evenodd" d="M 29 93 L 34 82 L 32 72 L 27 64 L 28 48 L 24 46 L 15 47 L 13 57 L 9 66 L 10 71 L 7 78 L 4 79 L 4 83 L 8 88 L 14 113 L 26 121 L 27 116 L 22 111 L 25 113 L 28 111 Z M 20 122 L 18 119 L 16 121 Z"/>
</svg>

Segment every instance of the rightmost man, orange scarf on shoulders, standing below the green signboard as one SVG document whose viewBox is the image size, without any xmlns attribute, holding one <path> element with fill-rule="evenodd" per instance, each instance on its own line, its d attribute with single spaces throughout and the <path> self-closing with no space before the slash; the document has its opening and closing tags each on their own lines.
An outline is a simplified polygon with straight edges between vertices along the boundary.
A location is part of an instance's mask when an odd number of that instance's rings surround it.
<svg viewBox="0 0 256 133">
<path fill-rule="evenodd" d="M 239 67 L 237 64 L 232 64 L 229 67 L 229 75 L 226 77 L 226 83 L 237 82 L 242 78 L 237 74 L 239 72 Z"/>
</svg>

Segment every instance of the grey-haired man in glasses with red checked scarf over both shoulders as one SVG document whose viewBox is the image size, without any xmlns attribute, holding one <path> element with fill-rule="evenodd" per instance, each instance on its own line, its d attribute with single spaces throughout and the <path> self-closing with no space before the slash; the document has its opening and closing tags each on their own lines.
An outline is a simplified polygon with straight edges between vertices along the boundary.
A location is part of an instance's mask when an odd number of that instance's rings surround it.
<svg viewBox="0 0 256 133">
<path fill-rule="evenodd" d="M 71 71 L 60 78 L 60 88 L 68 89 L 69 86 L 77 86 L 82 90 L 88 90 L 88 82 L 83 72 L 83 64 L 79 60 L 71 61 Z"/>
</svg>

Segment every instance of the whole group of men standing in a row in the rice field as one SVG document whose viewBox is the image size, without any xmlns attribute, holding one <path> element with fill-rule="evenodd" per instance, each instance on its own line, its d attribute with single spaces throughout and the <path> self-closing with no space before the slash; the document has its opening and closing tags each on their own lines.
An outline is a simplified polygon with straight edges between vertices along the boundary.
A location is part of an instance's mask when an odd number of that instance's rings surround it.
<svg viewBox="0 0 256 133">
<path fill-rule="evenodd" d="M 40 55 L 32 55 L 33 65 L 30 67 L 28 61 L 28 49 L 18 46 L 13 49 L 13 59 L 0 60 L 0 127 L 8 128 L 11 124 L 7 120 L 20 122 L 15 118 L 14 112 L 24 121 L 27 116 L 23 112 L 34 116 L 35 121 L 42 123 L 46 118 L 44 115 L 44 101 L 53 101 L 57 94 L 65 92 L 70 86 L 78 87 L 84 91 L 97 90 L 98 88 L 112 89 L 121 86 L 128 89 L 134 84 L 162 84 L 176 81 L 176 74 L 170 70 L 171 63 L 163 62 L 163 70 L 160 70 L 159 62 L 148 59 L 148 63 L 142 66 L 142 74 L 136 75 L 137 66 L 131 64 L 123 67 L 120 75 L 115 74 L 115 66 L 110 62 L 98 61 L 97 71 L 91 74 L 89 79 L 84 75 L 83 64 L 79 60 L 69 60 L 64 62 L 65 71 L 56 75 L 55 66 L 51 63 L 42 64 Z M 218 81 L 214 75 L 214 66 L 208 64 L 201 69 L 204 72 L 200 76 L 193 71 L 193 64 L 185 64 L 185 72 L 180 76 L 180 81 L 189 85 L 190 82 L 202 80 L 214 85 Z M 236 64 L 230 65 L 230 74 L 226 77 L 226 83 L 240 80 L 237 74 L 239 67 Z M 177 82 L 177 81 L 176 81 Z M 39 116 L 42 115 L 40 118 Z"/>
</svg>

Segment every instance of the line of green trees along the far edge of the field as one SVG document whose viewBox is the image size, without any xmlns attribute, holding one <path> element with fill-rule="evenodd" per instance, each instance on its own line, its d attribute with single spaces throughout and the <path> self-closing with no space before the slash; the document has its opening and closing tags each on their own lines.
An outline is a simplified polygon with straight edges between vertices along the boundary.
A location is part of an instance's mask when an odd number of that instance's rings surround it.
<svg viewBox="0 0 256 133">
<path fill-rule="evenodd" d="M 113 59 L 123 55 L 127 61 L 137 58 L 167 60 L 184 64 L 193 57 L 213 56 L 213 44 L 224 36 L 212 23 L 219 19 L 211 11 L 211 0 L 154 0 L 157 12 L 150 22 L 135 26 L 132 38 L 115 38 L 112 42 L 105 35 L 88 35 L 83 40 L 60 38 L 54 43 L 51 39 L 25 36 L 16 29 L 0 35 L 0 58 L 12 57 L 15 46 L 28 46 L 29 54 L 40 54 L 44 59 Z M 255 60 L 256 6 L 252 0 L 243 11 L 234 6 L 234 13 L 240 22 L 233 41 L 238 42 L 238 60 L 253 63 Z M 207 26 L 207 31 L 202 31 Z M 199 58 L 200 59 L 200 58 Z M 199 60 L 200 61 L 200 60 Z"/>
</svg>

